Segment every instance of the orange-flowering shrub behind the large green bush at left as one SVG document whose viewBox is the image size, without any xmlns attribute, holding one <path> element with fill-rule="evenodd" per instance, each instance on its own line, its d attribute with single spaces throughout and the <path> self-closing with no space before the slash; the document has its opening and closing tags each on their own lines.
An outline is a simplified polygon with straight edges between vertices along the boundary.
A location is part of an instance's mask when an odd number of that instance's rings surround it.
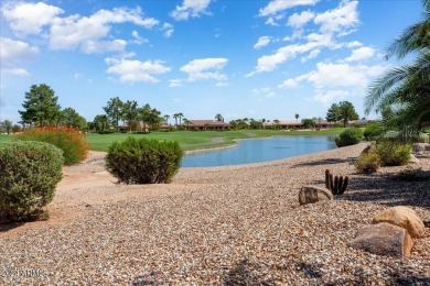
<svg viewBox="0 0 430 286">
<path fill-rule="evenodd" d="M 64 164 L 73 165 L 87 157 L 89 145 L 85 134 L 68 127 L 30 128 L 17 136 L 23 141 L 47 142 L 64 153 Z"/>
</svg>

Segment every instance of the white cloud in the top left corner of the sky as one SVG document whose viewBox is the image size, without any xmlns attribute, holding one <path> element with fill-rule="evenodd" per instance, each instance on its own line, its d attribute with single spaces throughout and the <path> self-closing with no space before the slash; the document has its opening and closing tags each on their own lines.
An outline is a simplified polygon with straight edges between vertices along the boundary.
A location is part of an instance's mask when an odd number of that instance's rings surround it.
<svg viewBox="0 0 430 286">
<path fill-rule="evenodd" d="M 50 24 L 56 15 L 64 11 L 54 6 L 39 3 L 19 3 L 2 9 L 10 28 L 19 34 L 40 34 L 44 25 Z"/>
</svg>

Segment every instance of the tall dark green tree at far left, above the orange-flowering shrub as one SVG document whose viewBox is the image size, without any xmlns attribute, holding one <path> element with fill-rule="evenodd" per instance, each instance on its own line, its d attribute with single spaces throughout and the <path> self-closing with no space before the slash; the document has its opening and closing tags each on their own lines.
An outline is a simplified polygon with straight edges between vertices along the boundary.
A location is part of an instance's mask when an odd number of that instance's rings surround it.
<svg viewBox="0 0 430 286">
<path fill-rule="evenodd" d="M 50 86 L 32 85 L 30 91 L 25 92 L 25 100 L 22 107 L 23 111 L 19 110 L 23 124 L 37 124 L 44 127 L 46 124 L 56 124 L 60 119 L 61 107 L 57 105 L 58 97 L 55 96 Z"/>
</svg>

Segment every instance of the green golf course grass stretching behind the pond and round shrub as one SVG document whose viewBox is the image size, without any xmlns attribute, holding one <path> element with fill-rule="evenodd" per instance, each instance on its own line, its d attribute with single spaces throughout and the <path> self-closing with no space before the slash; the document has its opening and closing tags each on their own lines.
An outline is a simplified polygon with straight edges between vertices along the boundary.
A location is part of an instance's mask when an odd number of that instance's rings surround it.
<svg viewBox="0 0 430 286">
<path fill-rule="evenodd" d="M 111 134 L 87 134 L 92 150 L 107 151 L 115 142 L 121 142 L 128 136 L 146 138 L 157 140 L 178 141 L 184 150 L 206 148 L 214 146 L 230 145 L 236 139 L 267 138 L 279 135 L 333 135 L 340 134 L 343 129 L 331 129 L 321 131 L 275 131 L 275 130 L 240 130 L 240 131 L 176 131 L 176 132 L 151 132 L 148 134 L 111 133 Z M 222 143 L 213 143 L 215 138 L 222 138 Z"/>
</svg>

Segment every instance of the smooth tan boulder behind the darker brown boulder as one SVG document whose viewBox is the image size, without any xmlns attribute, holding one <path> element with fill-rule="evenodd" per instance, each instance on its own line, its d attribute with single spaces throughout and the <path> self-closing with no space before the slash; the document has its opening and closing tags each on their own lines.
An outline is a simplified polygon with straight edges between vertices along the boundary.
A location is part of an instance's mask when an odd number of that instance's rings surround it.
<svg viewBox="0 0 430 286">
<path fill-rule="evenodd" d="M 415 210 L 407 207 L 394 207 L 376 215 L 372 223 L 388 222 L 406 229 L 412 238 L 423 238 L 426 234 L 424 223 Z"/>
</svg>

